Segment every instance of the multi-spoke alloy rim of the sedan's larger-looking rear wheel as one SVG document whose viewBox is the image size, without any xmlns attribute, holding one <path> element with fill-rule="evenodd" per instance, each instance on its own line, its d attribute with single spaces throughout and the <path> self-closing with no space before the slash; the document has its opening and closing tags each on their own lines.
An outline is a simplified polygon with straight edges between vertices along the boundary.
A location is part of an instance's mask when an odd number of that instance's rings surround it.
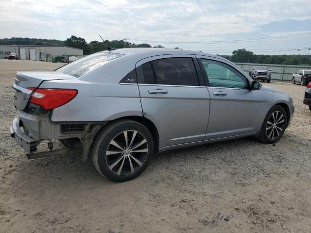
<svg viewBox="0 0 311 233">
<path fill-rule="evenodd" d="M 148 154 L 145 136 L 135 130 L 127 130 L 115 136 L 106 150 L 108 168 L 117 175 L 129 175 L 143 165 Z"/>
</svg>

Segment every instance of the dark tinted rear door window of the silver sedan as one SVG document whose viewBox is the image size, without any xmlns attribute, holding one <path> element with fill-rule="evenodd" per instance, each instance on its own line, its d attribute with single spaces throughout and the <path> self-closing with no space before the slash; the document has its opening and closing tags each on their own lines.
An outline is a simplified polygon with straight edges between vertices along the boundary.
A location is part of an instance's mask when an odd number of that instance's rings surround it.
<svg viewBox="0 0 311 233">
<path fill-rule="evenodd" d="M 137 68 L 138 83 L 198 86 L 199 80 L 192 58 L 164 58 Z"/>
</svg>

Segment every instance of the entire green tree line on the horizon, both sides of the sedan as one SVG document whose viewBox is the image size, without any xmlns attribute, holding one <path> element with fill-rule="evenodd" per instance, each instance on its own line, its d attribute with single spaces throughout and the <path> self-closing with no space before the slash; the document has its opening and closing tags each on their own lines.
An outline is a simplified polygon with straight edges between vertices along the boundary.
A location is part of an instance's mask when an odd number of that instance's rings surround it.
<svg viewBox="0 0 311 233">
<path fill-rule="evenodd" d="M 81 37 L 72 35 L 66 40 L 55 39 L 37 39 L 37 38 L 22 38 L 12 37 L 0 39 L 2 45 L 60 45 L 69 46 L 73 48 L 83 49 L 83 53 L 88 55 L 94 52 L 104 51 L 111 48 L 152 48 L 150 44 L 142 43 L 135 44 L 126 40 L 93 40 L 86 43 L 86 40 Z M 154 46 L 154 48 L 164 48 L 161 45 Z M 176 47 L 175 49 L 178 49 Z M 281 65 L 311 65 L 311 55 L 263 55 L 254 54 L 252 51 L 245 49 L 238 49 L 232 52 L 232 55 L 219 55 L 232 62 L 242 63 L 258 63 L 258 64 L 281 64 Z"/>
</svg>

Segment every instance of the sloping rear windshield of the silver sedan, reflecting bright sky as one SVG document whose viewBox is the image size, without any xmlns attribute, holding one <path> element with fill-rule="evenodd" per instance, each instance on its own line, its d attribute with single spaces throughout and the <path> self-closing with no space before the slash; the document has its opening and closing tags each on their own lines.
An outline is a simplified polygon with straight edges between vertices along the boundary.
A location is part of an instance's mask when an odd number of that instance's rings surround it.
<svg viewBox="0 0 311 233">
<path fill-rule="evenodd" d="M 68 65 L 60 67 L 55 71 L 79 78 L 88 71 L 91 71 L 121 56 L 123 55 L 118 53 L 98 52 L 69 63 Z"/>
</svg>

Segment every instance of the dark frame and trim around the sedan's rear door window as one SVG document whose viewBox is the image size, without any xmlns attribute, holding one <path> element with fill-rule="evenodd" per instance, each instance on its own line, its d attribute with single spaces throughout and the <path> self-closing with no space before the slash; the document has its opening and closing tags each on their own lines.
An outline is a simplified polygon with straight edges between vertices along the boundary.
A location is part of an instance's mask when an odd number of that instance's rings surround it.
<svg viewBox="0 0 311 233">
<path fill-rule="evenodd" d="M 192 63 L 193 63 L 193 67 L 194 67 L 194 69 L 195 69 L 195 73 L 196 73 L 196 78 L 197 78 L 197 81 L 198 81 L 198 85 L 197 86 L 193 86 L 193 85 L 173 85 L 173 84 L 160 84 L 160 83 L 157 83 L 157 79 L 156 79 L 156 75 L 155 75 L 155 67 L 154 67 L 154 65 L 153 65 L 153 62 L 154 61 L 157 61 L 157 60 L 163 60 L 163 59 L 169 59 L 169 58 L 190 58 L 191 59 L 191 61 L 192 61 Z M 196 58 L 195 57 L 192 57 L 192 56 L 173 56 L 173 57 L 170 57 L 170 56 L 167 56 L 167 57 L 161 57 L 161 58 L 158 58 L 158 59 L 154 59 L 154 60 L 150 60 L 150 61 L 147 61 L 147 62 L 145 62 L 145 63 L 142 63 L 142 64 L 140 64 L 138 67 L 140 67 L 140 66 L 142 66 L 142 65 L 144 65 L 144 64 L 146 64 L 146 63 L 148 63 L 148 62 L 150 62 L 150 64 L 151 64 L 151 68 L 152 68 L 152 72 L 153 72 L 153 74 L 154 74 L 154 80 L 155 80 L 155 84 L 149 84 L 149 83 L 139 83 L 138 82 L 138 85 L 155 85 L 155 86 L 175 86 L 175 87 L 201 87 L 201 86 L 203 86 L 203 87 L 205 87 L 205 84 L 203 83 L 204 82 L 204 79 L 203 78 L 201 78 L 201 81 L 200 81 L 200 75 L 202 76 L 202 71 L 201 71 L 201 69 L 198 69 L 198 67 L 197 67 L 197 64 L 195 63 L 195 60 L 196 60 Z M 136 67 L 136 69 L 138 68 L 138 67 Z M 203 80 L 203 82 L 202 82 L 202 80 Z M 138 80 L 137 80 L 138 81 Z"/>
</svg>

